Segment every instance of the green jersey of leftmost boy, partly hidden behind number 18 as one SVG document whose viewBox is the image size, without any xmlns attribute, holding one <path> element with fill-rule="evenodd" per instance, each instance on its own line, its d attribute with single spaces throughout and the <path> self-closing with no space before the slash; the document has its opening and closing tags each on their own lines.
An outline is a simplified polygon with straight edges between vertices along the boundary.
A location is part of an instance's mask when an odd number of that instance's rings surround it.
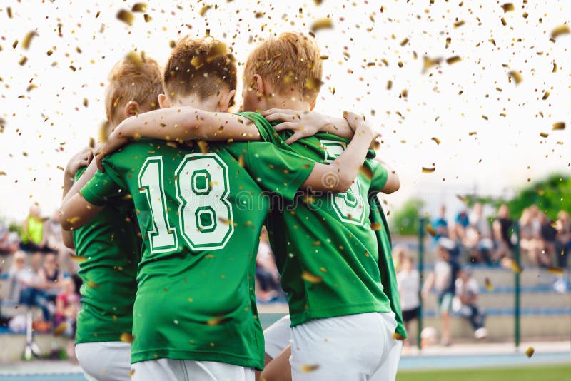
<svg viewBox="0 0 571 381">
<path fill-rule="evenodd" d="M 81 168 L 76 181 L 84 173 Z M 131 334 L 141 243 L 129 218 L 131 200 L 117 198 L 74 230 L 78 275 L 83 280 L 76 343 L 119 341 Z"/>
</svg>

